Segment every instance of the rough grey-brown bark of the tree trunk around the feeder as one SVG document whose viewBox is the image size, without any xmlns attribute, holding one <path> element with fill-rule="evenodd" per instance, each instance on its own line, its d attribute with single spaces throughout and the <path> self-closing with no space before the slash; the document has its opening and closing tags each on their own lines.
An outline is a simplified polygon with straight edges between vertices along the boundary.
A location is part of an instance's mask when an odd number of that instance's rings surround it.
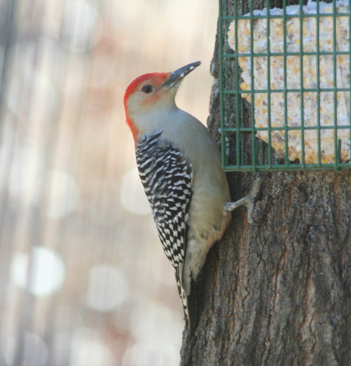
<svg viewBox="0 0 351 366">
<path fill-rule="evenodd" d="M 218 78 L 216 56 L 212 69 Z M 215 82 L 208 125 L 217 138 L 218 98 Z M 254 180 L 228 178 L 233 200 Z M 267 174 L 254 219 L 262 224 L 235 211 L 208 254 L 181 366 L 350 365 L 351 172 Z"/>
</svg>

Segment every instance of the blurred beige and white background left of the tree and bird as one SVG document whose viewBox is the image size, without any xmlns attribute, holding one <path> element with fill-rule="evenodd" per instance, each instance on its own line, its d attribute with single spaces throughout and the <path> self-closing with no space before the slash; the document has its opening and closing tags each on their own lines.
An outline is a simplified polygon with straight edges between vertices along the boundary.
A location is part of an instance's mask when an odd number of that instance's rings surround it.
<svg viewBox="0 0 351 366">
<path fill-rule="evenodd" d="M 179 364 L 181 301 L 137 175 L 124 90 L 201 60 L 218 3 L 1 0 L 0 366 Z"/>
</svg>

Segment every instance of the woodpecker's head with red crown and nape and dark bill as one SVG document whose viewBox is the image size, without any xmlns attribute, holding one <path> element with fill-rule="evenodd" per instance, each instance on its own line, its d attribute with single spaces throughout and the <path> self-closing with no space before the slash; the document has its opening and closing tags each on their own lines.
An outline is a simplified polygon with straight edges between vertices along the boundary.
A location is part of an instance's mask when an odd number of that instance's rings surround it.
<svg viewBox="0 0 351 366">
<path fill-rule="evenodd" d="M 146 116 L 159 116 L 176 108 L 174 98 L 182 79 L 200 65 L 200 61 L 173 72 L 153 72 L 132 81 L 124 94 L 127 123 L 136 141 L 143 132 Z"/>
</svg>

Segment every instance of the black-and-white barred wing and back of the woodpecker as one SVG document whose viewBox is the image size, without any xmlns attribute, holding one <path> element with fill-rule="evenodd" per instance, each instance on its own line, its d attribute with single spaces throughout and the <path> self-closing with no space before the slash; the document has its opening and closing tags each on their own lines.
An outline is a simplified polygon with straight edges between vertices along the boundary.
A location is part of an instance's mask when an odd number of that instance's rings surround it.
<svg viewBox="0 0 351 366">
<path fill-rule="evenodd" d="M 136 161 L 163 250 L 174 267 L 179 296 L 189 322 L 182 273 L 192 197 L 192 167 L 176 147 L 160 142 L 161 134 L 147 136 L 139 143 Z"/>
</svg>

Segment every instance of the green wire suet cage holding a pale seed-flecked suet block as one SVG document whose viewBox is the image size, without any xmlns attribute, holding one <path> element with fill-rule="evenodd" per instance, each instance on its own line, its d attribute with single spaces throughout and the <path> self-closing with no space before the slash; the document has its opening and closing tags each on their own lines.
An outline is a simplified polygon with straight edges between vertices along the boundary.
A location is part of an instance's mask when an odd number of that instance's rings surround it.
<svg viewBox="0 0 351 366">
<path fill-rule="evenodd" d="M 350 1 L 219 9 L 223 168 L 350 169 Z"/>
</svg>

